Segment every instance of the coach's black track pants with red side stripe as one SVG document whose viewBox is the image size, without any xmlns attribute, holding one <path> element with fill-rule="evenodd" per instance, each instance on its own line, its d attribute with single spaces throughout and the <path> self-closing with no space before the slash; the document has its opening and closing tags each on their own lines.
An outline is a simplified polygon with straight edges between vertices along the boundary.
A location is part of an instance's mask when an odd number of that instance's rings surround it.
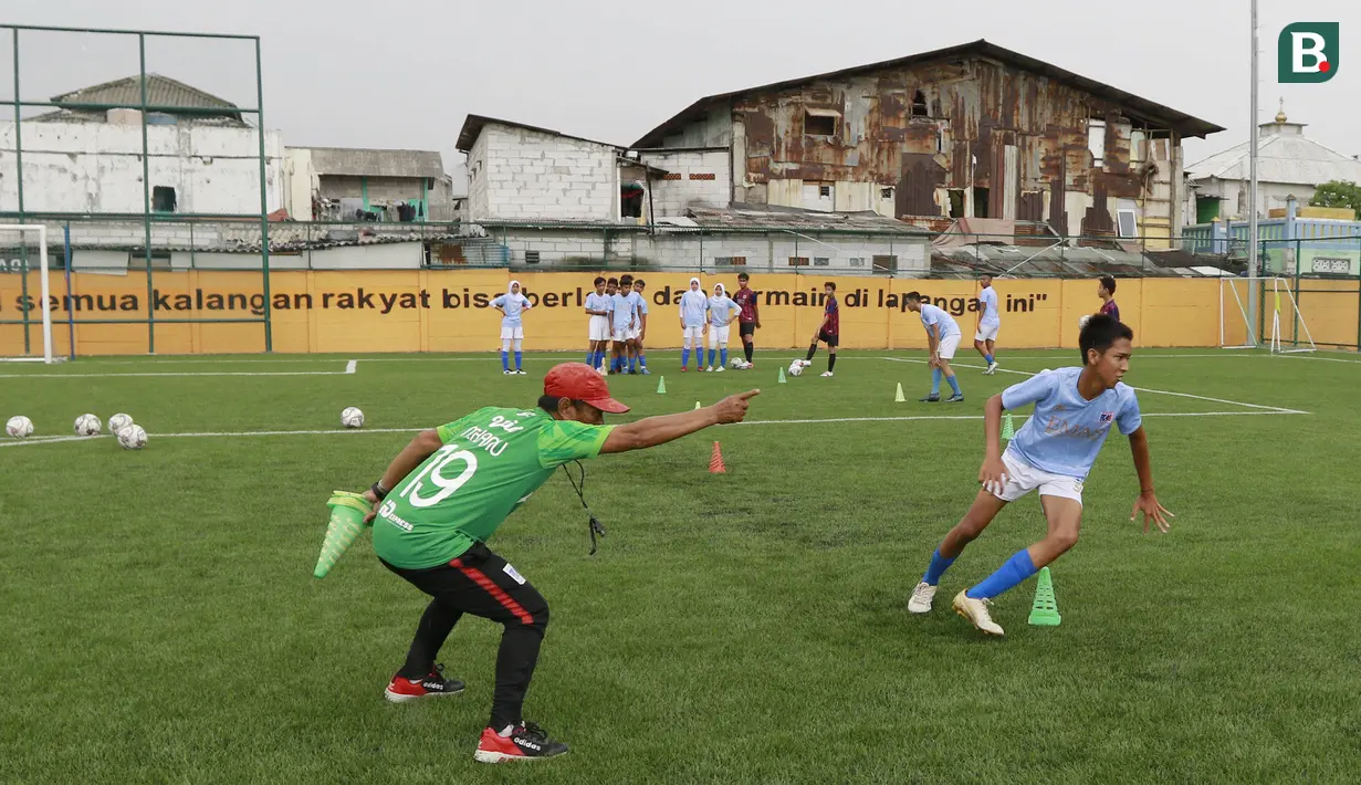
<svg viewBox="0 0 1361 785">
<path fill-rule="evenodd" d="M 408 570 L 382 562 L 433 597 L 416 626 L 407 664 L 397 673 L 419 679 L 434 669 L 436 656 L 464 614 L 505 626 L 497 653 L 497 691 L 490 728 L 519 725 L 539 645 L 548 626 L 548 603 L 505 559 L 478 543 L 448 565 Z"/>
</svg>

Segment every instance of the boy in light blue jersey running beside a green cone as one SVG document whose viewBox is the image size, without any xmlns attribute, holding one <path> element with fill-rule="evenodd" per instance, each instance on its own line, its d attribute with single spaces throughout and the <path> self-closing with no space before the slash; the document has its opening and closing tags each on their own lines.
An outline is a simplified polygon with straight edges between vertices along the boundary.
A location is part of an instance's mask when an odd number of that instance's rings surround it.
<svg viewBox="0 0 1361 785">
<path fill-rule="evenodd" d="M 1134 469 L 1139 475 L 1139 498 L 1130 520 L 1143 513 L 1145 532 L 1150 518 L 1160 531 L 1168 531 L 1165 516 L 1175 516 L 1153 492 L 1153 467 L 1139 401 L 1134 388 L 1120 381 L 1130 370 L 1132 340 L 1128 327 L 1109 316 L 1093 316 L 1078 339 L 1082 367 L 1043 371 L 988 400 L 984 407 L 987 457 L 979 471 L 983 490 L 931 555 L 931 565 L 908 600 L 908 611 L 930 612 L 940 575 L 964 547 L 977 539 L 1009 502 L 1038 488 L 1040 506 L 1049 522 L 1045 537 L 1017 551 L 981 584 L 954 597 L 955 612 L 979 630 L 1002 635 L 1002 627 L 988 615 L 992 597 L 1021 584 L 1077 544 L 1082 525 L 1082 484 L 1112 427 L 1130 437 Z M 1034 414 L 1002 452 L 1002 411 L 1029 404 L 1034 404 Z"/>
</svg>

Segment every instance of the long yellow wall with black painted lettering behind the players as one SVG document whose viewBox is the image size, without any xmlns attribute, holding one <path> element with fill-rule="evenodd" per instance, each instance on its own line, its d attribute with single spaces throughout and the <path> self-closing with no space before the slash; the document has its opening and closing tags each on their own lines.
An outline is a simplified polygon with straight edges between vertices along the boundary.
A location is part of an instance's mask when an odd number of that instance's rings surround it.
<svg viewBox="0 0 1361 785">
<path fill-rule="evenodd" d="M 72 291 L 90 295 L 71 305 L 76 320 L 76 352 L 143 354 L 147 351 L 146 324 L 80 324 L 88 320 L 146 318 L 147 280 L 143 273 L 72 273 Z M 508 271 L 362 271 L 362 272 L 276 272 L 269 278 L 274 347 L 280 352 L 382 352 L 382 351 L 489 351 L 499 348 L 501 316 L 482 305 L 505 291 Z M 536 307 L 525 314 L 527 350 L 580 350 L 585 346 L 583 305 L 592 291 L 593 273 L 519 273 Z M 687 273 L 644 273 L 651 307 L 648 346 L 672 348 L 680 344 L 675 299 L 660 305 L 667 291 L 672 298 L 687 288 Z M 920 290 L 936 305 L 957 314 L 965 344 L 973 337 L 977 314 L 969 299 L 979 286 L 972 280 L 920 280 L 878 278 L 827 278 L 813 275 L 755 273 L 753 283 L 762 294 L 762 347 L 803 347 L 822 320 L 817 297 L 825 280 L 837 283 L 841 301 L 841 346 L 847 348 L 921 348 L 925 333 L 920 317 L 902 306 L 902 295 Z M 38 273 L 29 273 L 29 290 L 37 302 Z M 736 290 L 736 275 L 704 275 L 705 290 L 724 283 Z M 23 278 L 0 275 L 0 320 L 22 318 L 19 307 Z M 1240 283 L 1240 290 L 1241 282 Z M 263 282 L 252 272 L 157 272 L 152 279 L 158 320 L 249 318 L 263 302 Z M 1322 286 L 1322 284 L 1316 284 Z M 1350 298 L 1342 293 L 1302 295 L 1302 309 L 1311 317 L 1315 340 L 1326 336 L 1356 340 L 1356 282 L 1347 282 Z M 53 336 L 59 352 L 68 347 L 64 302 L 65 279 L 52 273 L 57 298 Z M 999 280 L 995 284 L 1002 310 L 999 344 L 1006 348 L 1077 346 L 1078 317 L 1100 306 L 1096 280 Z M 776 299 L 788 294 L 789 305 Z M 1211 279 L 1123 279 L 1116 291 L 1121 318 L 1134 328 L 1138 346 L 1218 346 L 1219 283 Z M 310 297 L 310 307 L 308 298 Z M 807 305 L 793 305 L 793 298 Z M 1234 309 L 1225 290 L 1225 307 Z M 800 299 L 800 302 L 804 302 Z M 563 302 L 566 305 L 563 305 Z M 284 305 L 290 307 L 284 307 Z M 302 306 L 302 307 L 293 307 Z M 384 313 L 387 310 L 388 313 Z M 38 310 L 31 316 L 39 318 Z M 1289 317 L 1282 312 L 1283 318 Z M 1240 318 L 1225 320 L 1226 339 L 1241 343 Z M 1315 327 L 1317 324 L 1317 327 Z M 1237 333 L 1233 329 L 1237 328 Z M 0 356 L 22 354 L 22 327 L 0 325 Z M 1350 331 L 1350 333 L 1347 332 Z M 41 331 L 31 329 L 33 346 L 41 347 Z M 732 343 L 739 339 L 734 331 Z M 264 348 L 261 324 L 165 324 L 155 328 L 157 354 L 257 352 Z"/>
</svg>

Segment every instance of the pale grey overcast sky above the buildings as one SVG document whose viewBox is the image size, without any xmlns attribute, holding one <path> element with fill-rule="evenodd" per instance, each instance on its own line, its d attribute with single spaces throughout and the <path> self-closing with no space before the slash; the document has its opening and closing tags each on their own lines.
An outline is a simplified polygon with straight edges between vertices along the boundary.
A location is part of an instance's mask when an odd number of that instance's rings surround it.
<svg viewBox="0 0 1361 785">
<path fill-rule="evenodd" d="M 1225 127 L 1187 163 L 1248 137 L 1248 0 L 45 0 L 4 22 L 260 35 L 265 125 L 289 146 L 438 150 L 468 113 L 630 144 L 694 99 L 977 38 Z M 1011 14 L 1018 14 L 1011 18 Z M 1341 22 L 1338 75 L 1277 83 L 1290 22 Z M 1305 133 L 1361 154 L 1361 4 L 1260 0 L 1260 120 L 1279 97 Z M 1353 38 L 1356 35 L 1356 38 Z M 24 99 L 137 72 L 136 38 L 23 33 Z M 0 41 L 0 95 L 14 93 Z M 152 38 L 147 69 L 255 105 L 253 48 Z M 461 184 L 456 182 L 461 190 Z"/>
</svg>

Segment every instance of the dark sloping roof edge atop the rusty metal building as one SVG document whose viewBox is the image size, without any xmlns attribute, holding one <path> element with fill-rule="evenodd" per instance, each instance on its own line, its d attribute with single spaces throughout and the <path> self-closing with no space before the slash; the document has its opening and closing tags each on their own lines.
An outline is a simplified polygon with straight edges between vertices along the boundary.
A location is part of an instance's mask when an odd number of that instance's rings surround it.
<svg viewBox="0 0 1361 785">
<path fill-rule="evenodd" d="M 1105 98 L 1106 101 L 1111 101 L 1112 103 L 1124 107 L 1126 113 L 1130 117 L 1143 118 L 1153 121 L 1158 125 L 1173 128 L 1183 136 L 1199 136 L 1203 139 L 1210 133 L 1217 133 L 1219 131 L 1224 131 L 1224 128 L 1219 125 L 1207 122 L 1198 117 L 1192 117 L 1190 114 L 1185 114 L 1184 112 L 1177 112 L 1176 109 L 1164 106 L 1161 103 L 1155 103 L 1153 101 L 1149 101 L 1147 98 L 1141 98 L 1138 95 L 1134 95 L 1132 93 L 1126 93 L 1123 90 L 1112 87 L 1109 84 L 1104 84 L 1094 79 L 1079 76 L 1071 71 L 1064 71 L 1063 68 L 1059 68 L 1057 65 L 1053 65 L 1051 63 L 1028 57 L 1025 54 L 1021 54 L 1019 52 L 1004 49 L 1002 46 L 998 46 L 996 44 L 989 44 L 988 41 L 980 38 L 979 41 L 973 41 L 970 44 L 961 44 L 958 46 L 935 49 L 932 52 L 920 52 L 917 54 L 909 54 L 906 57 L 898 57 L 896 60 L 883 60 L 881 63 L 870 63 L 867 65 L 842 68 L 840 71 L 832 71 L 827 73 L 817 73 L 814 76 L 802 76 L 799 79 L 776 82 L 773 84 L 762 84 L 759 87 L 749 87 L 744 90 L 735 90 L 732 93 L 720 93 L 717 95 L 708 95 L 705 98 L 695 101 L 671 120 L 667 120 L 661 125 L 649 131 L 646 135 L 642 136 L 642 139 L 634 143 L 634 147 L 637 148 L 660 147 L 661 141 L 672 129 L 683 127 L 691 120 L 704 114 L 709 109 L 709 106 L 719 103 L 721 101 L 728 101 L 738 95 L 787 90 L 789 87 L 799 87 L 810 82 L 818 82 L 823 79 L 841 79 L 845 76 L 855 76 L 859 73 L 866 73 L 872 71 L 902 68 L 908 65 L 916 65 L 919 63 L 930 63 L 936 60 L 949 60 L 960 57 L 989 57 L 994 60 L 999 60 L 1002 63 L 1009 63 L 1017 68 L 1030 71 L 1033 73 L 1048 76 L 1049 79 L 1055 79 L 1057 82 L 1072 84 L 1079 90 L 1085 90 L 1093 95 Z"/>
</svg>

